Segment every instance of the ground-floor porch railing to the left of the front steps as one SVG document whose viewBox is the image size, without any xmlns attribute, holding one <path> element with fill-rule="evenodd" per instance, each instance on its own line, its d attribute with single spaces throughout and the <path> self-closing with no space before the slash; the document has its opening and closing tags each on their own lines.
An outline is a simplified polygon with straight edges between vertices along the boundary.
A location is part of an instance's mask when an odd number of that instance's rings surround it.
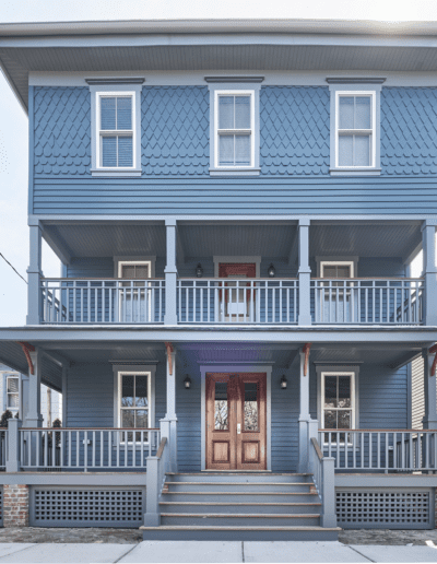
<svg viewBox="0 0 437 564">
<path fill-rule="evenodd" d="M 144 469 L 161 440 L 158 428 L 21 428 L 24 470 Z"/>
</svg>

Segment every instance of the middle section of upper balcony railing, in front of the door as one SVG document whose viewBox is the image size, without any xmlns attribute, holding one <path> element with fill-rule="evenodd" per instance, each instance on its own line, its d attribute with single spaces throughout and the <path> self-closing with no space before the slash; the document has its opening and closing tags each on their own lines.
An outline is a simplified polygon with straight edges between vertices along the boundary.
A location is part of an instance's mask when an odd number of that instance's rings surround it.
<svg viewBox="0 0 437 564">
<path fill-rule="evenodd" d="M 297 324 L 295 279 L 179 279 L 179 324 Z"/>
</svg>

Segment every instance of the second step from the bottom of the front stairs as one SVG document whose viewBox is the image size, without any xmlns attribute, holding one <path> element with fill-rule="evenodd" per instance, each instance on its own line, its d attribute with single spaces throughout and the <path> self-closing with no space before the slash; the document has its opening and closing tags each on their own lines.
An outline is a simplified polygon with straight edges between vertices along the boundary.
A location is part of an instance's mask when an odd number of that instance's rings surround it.
<svg viewBox="0 0 437 564">
<path fill-rule="evenodd" d="M 212 507 L 213 508 L 213 507 Z M 318 527 L 320 515 L 240 515 L 240 514 L 161 514 L 161 525 L 215 526 L 215 527 Z"/>
</svg>

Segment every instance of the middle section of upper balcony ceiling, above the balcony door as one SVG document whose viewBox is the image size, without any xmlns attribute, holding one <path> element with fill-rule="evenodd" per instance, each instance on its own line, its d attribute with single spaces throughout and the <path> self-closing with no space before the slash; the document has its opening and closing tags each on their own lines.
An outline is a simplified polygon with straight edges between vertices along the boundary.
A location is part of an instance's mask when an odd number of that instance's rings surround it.
<svg viewBox="0 0 437 564">
<path fill-rule="evenodd" d="M 250 256 L 288 259 L 297 227 L 292 224 L 180 224 L 178 235 L 187 258 Z"/>
</svg>

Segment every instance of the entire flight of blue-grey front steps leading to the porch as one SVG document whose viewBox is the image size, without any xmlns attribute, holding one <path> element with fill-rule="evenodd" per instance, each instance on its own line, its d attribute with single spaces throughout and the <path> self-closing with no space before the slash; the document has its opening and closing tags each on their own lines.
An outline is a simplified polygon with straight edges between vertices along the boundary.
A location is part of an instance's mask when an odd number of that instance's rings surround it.
<svg viewBox="0 0 437 564">
<path fill-rule="evenodd" d="M 340 530 L 320 527 L 311 474 L 168 473 L 160 508 L 144 540 L 338 540 Z"/>
</svg>

